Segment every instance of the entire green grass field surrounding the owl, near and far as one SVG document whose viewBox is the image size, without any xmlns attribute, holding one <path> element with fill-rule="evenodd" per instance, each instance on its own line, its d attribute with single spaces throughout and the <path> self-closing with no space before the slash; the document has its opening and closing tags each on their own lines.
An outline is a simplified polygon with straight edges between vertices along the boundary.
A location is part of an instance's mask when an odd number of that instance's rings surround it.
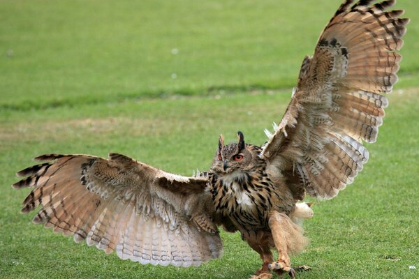
<svg viewBox="0 0 419 279">
<path fill-rule="evenodd" d="M 217 137 L 262 144 L 333 1 L 0 1 L 0 278 L 247 278 L 238 234 L 196 268 L 141 266 L 31 225 L 10 184 L 41 153 L 124 153 L 170 172 L 210 167 Z M 416 5 L 415 5 L 416 4 Z M 355 183 L 316 203 L 298 278 L 419 277 L 419 8 L 400 82 Z M 417 269 L 409 269 L 416 266 Z"/>
</svg>

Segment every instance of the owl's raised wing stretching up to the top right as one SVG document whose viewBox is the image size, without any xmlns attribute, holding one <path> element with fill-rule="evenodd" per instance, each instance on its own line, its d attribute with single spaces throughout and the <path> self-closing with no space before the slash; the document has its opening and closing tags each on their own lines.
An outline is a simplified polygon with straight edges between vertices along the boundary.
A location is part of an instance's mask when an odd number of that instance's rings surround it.
<svg viewBox="0 0 419 279">
<path fill-rule="evenodd" d="M 302 63 L 297 89 L 261 156 L 297 199 L 332 198 L 368 160 L 397 82 L 407 19 L 395 1 L 345 1 Z"/>
</svg>

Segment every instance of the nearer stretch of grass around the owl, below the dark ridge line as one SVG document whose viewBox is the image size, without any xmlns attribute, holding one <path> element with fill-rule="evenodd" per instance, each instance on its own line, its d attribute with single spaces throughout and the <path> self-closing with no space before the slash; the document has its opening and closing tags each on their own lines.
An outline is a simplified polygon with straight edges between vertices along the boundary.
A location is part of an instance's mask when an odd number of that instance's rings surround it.
<svg viewBox="0 0 419 279">
<path fill-rule="evenodd" d="M 234 140 L 240 129 L 247 141 L 263 143 L 262 128 L 279 119 L 289 97 L 237 94 L 9 112 L 0 130 L 0 276 L 247 278 L 260 263 L 237 234 L 222 234 L 223 258 L 198 268 L 141 266 L 31 225 L 33 214 L 18 213 L 28 191 L 9 185 L 29 158 L 50 152 L 117 151 L 171 172 L 207 169 L 219 133 Z M 314 269 L 300 278 L 416 278 L 409 266 L 419 266 L 418 103 L 416 90 L 395 91 L 365 169 L 338 197 L 314 206 L 315 217 L 305 223 L 311 245 L 293 257 Z"/>
</svg>

